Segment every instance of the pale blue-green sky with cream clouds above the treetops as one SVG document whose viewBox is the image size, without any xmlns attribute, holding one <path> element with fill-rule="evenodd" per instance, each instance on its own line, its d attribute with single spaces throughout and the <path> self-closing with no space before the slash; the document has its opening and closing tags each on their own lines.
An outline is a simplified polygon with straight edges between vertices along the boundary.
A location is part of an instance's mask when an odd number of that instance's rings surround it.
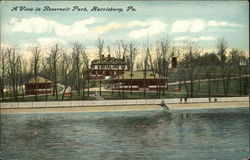
<svg viewBox="0 0 250 160">
<path fill-rule="evenodd" d="M 34 44 L 78 41 L 95 50 L 98 37 L 111 47 L 120 39 L 154 45 L 168 38 L 213 50 L 224 38 L 249 52 L 248 8 L 247 1 L 1 1 L 1 44 L 25 52 Z"/>
</svg>

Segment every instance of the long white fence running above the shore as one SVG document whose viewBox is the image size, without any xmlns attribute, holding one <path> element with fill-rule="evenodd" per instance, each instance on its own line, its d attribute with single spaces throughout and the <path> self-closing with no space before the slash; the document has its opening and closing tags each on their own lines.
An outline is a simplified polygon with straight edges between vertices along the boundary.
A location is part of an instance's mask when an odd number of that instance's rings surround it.
<svg viewBox="0 0 250 160">
<path fill-rule="evenodd" d="M 206 103 L 208 98 L 188 98 L 186 102 L 179 98 L 171 99 L 133 99 L 133 100 L 95 100 L 95 101 L 43 101 L 43 102 L 8 102 L 0 103 L 1 109 L 8 108 L 55 108 L 55 107 L 85 107 L 85 106 L 112 106 L 112 105 L 158 105 L 162 101 L 167 104 L 177 103 Z M 217 102 L 249 101 L 249 97 L 218 97 Z M 211 102 L 215 102 L 212 98 Z"/>
</svg>

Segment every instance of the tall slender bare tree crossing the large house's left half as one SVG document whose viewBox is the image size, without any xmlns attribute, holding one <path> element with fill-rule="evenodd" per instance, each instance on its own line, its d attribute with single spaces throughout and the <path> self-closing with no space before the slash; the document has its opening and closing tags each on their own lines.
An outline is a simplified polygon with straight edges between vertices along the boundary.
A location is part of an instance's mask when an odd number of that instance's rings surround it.
<svg viewBox="0 0 250 160">
<path fill-rule="evenodd" d="M 102 95 L 102 81 L 101 81 L 101 75 L 102 75 L 102 54 L 103 54 L 103 48 L 104 48 L 104 40 L 101 38 L 98 38 L 96 41 L 96 46 L 98 48 L 98 55 L 100 59 L 100 65 L 101 65 L 101 71 L 99 72 L 99 94 Z"/>
</svg>

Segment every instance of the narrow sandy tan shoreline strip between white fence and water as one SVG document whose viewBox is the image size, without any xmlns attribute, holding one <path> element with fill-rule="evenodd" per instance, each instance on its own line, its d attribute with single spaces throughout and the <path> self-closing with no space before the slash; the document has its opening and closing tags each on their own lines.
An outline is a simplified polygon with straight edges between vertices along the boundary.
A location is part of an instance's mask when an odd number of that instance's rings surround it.
<svg viewBox="0 0 250 160">
<path fill-rule="evenodd" d="M 213 102 L 213 103 L 180 103 L 168 104 L 170 110 L 187 109 L 220 109 L 249 107 L 248 101 Z M 1 109 L 1 114 L 33 114 L 33 113 L 67 113 L 67 112 L 123 112 L 123 111 L 154 111 L 163 110 L 160 105 L 122 105 L 122 106 L 91 106 L 91 107 L 56 107 L 56 108 L 15 108 Z"/>
</svg>

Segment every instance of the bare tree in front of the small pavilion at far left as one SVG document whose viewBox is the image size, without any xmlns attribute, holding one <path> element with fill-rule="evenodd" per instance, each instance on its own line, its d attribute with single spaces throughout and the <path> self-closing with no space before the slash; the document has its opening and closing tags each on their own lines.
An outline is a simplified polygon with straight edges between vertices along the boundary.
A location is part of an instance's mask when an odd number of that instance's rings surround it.
<svg viewBox="0 0 250 160">
<path fill-rule="evenodd" d="M 34 46 L 31 48 L 31 52 L 32 52 L 32 60 L 31 60 L 31 68 L 33 70 L 33 74 L 34 74 L 34 78 L 35 78 L 35 83 L 37 83 L 37 76 L 39 73 L 39 68 L 40 68 L 40 56 L 41 56 L 41 49 L 40 47 Z M 35 85 L 35 99 L 37 101 L 37 85 Z"/>
</svg>

